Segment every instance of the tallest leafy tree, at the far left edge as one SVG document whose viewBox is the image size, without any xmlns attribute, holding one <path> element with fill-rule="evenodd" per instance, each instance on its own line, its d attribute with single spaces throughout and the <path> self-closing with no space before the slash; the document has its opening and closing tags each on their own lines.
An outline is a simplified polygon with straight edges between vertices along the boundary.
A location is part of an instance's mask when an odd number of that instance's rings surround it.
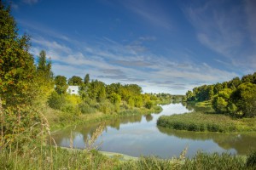
<svg viewBox="0 0 256 170">
<path fill-rule="evenodd" d="M 26 35 L 19 36 L 15 19 L 10 8 L 0 1 L 0 119 L 1 141 L 13 144 L 17 135 L 20 143 L 35 137 L 36 126 L 40 122 L 35 104 L 38 100 L 36 67 L 30 42 Z M 34 108 L 34 110 L 32 109 Z M 22 138 L 26 135 L 26 138 Z M 31 138 L 30 138 L 31 137 Z M 22 140 L 21 140 L 22 139 Z M 2 148 L 2 145 L 0 144 Z"/>
</svg>

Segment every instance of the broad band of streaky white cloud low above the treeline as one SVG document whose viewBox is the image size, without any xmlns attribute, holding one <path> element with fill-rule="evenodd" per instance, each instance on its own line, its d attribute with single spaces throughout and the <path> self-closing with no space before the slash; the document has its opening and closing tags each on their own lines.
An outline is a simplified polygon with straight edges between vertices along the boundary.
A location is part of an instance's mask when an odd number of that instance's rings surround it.
<svg viewBox="0 0 256 170">
<path fill-rule="evenodd" d="M 50 32 L 50 31 L 49 31 Z M 45 49 L 53 60 L 55 75 L 84 77 L 86 73 L 103 82 L 137 83 L 145 92 L 184 94 L 203 82 L 221 82 L 236 77 L 236 73 L 218 70 L 205 63 L 174 61 L 150 50 L 135 52 L 127 44 L 140 41 L 154 42 L 154 37 L 137 37 L 131 42 L 115 42 L 108 37 L 96 42 L 76 41 L 49 37 L 32 37 L 32 54 Z M 196 83 L 196 84 L 193 84 Z"/>
</svg>

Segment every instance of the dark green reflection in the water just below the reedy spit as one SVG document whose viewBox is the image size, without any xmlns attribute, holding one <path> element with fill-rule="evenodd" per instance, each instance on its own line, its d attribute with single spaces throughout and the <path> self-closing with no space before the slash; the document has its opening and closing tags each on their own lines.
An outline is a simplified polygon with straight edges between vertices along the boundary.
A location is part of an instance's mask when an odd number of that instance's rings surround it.
<svg viewBox="0 0 256 170">
<path fill-rule="evenodd" d="M 198 133 L 190 131 L 172 130 L 166 127 L 157 126 L 161 133 L 169 136 L 176 136 L 179 139 L 210 140 L 212 139 L 219 147 L 230 150 L 235 149 L 237 154 L 246 155 L 250 149 L 256 150 L 255 134 L 237 133 Z"/>
</svg>

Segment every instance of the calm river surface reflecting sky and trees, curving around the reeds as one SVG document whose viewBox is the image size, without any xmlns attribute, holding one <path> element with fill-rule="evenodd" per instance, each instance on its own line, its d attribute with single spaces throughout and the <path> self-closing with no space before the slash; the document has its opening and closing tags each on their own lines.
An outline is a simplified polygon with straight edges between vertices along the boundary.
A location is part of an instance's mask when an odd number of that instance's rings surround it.
<svg viewBox="0 0 256 170">
<path fill-rule="evenodd" d="M 195 156 L 198 150 L 207 153 L 229 152 L 244 155 L 256 149 L 256 134 L 241 133 L 195 133 L 158 127 L 157 119 L 162 115 L 183 114 L 194 111 L 193 106 L 182 104 L 162 105 L 160 114 L 145 116 L 125 116 L 108 120 L 102 136 L 100 150 L 119 152 L 128 156 L 160 156 L 169 158 L 179 156 L 188 146 L 187 156 Z M 200 109 L 200 108 L 197 108 Z M 73 147 L 84 149 L 88 137 L 96 131 L 100 122 L 70 127 L 55 133 L 54 139 L 59 146 L 69 147 L 73 135 Z"/>
</svg>

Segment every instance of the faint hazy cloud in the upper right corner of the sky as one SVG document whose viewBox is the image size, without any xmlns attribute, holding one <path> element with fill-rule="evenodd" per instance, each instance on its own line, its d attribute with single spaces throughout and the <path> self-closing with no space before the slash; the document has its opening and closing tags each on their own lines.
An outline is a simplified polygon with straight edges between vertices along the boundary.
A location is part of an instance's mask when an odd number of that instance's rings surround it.
<svg viewBox="0 0 256 170">
<path fill-rule="evenodd" d="M 255 69 L 255 59 L 250 51 L 255 52 L 255 46 L 248 44 L 249 37 L 256 40 L 255 1 L 246 1 L 246 5 L 232 5 L 226 8 L 226 1 L 207 1 L 191 4 L 184 8 L 192 26 L 195 27 L 199 42 L 222 54 L 236 68 Z M 246 8 L 247 16 L 244 13 Z M 222 60 L 222 59 L 217 59 Z"/>
</svg>

